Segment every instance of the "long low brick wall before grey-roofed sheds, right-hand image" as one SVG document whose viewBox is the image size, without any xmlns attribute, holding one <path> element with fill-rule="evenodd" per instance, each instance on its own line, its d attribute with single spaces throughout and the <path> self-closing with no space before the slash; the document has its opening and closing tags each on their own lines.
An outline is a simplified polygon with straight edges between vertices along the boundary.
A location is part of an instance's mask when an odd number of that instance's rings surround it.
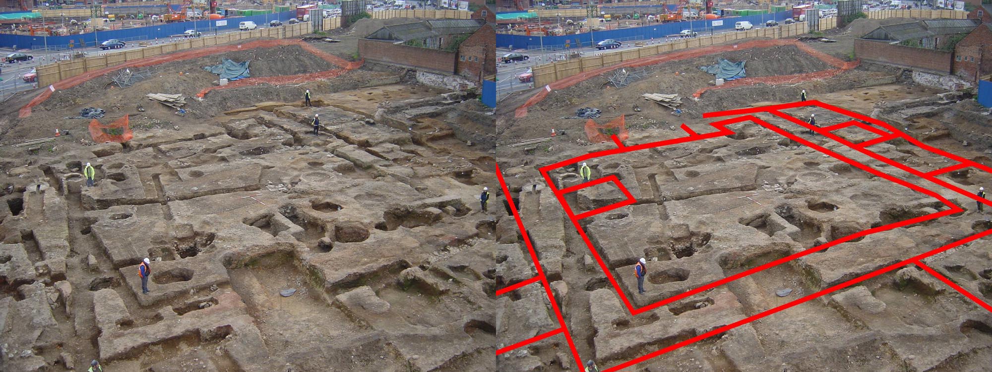
<svg viewBox="0 0 992 372">
<path fill-rule="evenodd" d="M 871 62 L 950 73 L 953 53 L 858 39 L 854 41 L 854 56 Z"/>
</svg>

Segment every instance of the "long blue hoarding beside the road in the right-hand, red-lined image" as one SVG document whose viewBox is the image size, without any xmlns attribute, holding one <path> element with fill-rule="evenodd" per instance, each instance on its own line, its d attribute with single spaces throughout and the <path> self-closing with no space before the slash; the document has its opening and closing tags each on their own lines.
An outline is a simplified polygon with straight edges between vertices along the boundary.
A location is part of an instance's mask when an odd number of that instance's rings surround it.
<svg viewBox="0 0 992 372">
<path fill-rule="evenodd" d="M 579 46 L 590 46 L 593 42 L 606 39 L 617 40 L 650 40 L 661 39 L 670 35 L 679 34 L 682 30 L 697 31 L 727 31 L 733 30 L 734 24 L 741 21 L 749 21 L 755 27 L 764 27 L 766 21 L 774 20 L 783 22 L 792 17 L 791 11 L 773 14 L 759 14 L 754 16 L 728 17 L 717 20 L 687 21 L 676 23 L 657 23 L 650 26 L 633 27 L 629 29 L 596 31 L 594 33 L 584 33 L 578 35 L 565 36 L 526 36 L 496 34 L 496 48 L 508 49 L 537 49 L 537 48 L 577 48 Z M 714 26 L 713 22 L 717 22 Z M 722 23 L 722 25 L 720 24 Z M 544 40 L 542 40 L 544 39 Z"/>
</svg>

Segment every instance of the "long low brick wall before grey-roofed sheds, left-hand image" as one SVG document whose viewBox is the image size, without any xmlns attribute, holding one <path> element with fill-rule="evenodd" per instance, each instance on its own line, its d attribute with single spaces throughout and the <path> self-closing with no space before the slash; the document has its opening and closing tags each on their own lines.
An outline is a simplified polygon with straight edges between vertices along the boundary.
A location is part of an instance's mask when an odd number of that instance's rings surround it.
<svg viewBox="0 0 992 372">
<path fill-rule="evenodd" d="M 386 62 L 411 67 L 433 69 L 454 73 L 456 54 L 427 48 L 394 45 L 361 39 L 358 41 L 358 55 L 373 62 Z"/>
</svg>

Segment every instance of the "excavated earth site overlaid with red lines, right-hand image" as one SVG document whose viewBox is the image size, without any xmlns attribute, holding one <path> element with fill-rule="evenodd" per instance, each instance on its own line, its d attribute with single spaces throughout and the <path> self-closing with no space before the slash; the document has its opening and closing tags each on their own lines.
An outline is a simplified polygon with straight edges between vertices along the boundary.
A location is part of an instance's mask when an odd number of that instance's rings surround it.
<svg viewBox="0 0 992 372">
<path fill-rule="evenodd" d="M 500 102 L 526 232 L 497 246 L 499 370 L 989 369 L 987 109 L 828 37 L 689 49 Z M 714 86 L 720 59 L 747 77 Z"/>
</svg>

